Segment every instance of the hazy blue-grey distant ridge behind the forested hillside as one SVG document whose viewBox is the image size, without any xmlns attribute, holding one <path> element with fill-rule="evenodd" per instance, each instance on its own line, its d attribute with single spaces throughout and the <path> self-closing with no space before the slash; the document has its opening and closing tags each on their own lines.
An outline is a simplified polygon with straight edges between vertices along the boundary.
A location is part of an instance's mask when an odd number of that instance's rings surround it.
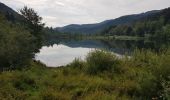
<svg viewBox="0 0 170 100">
<path fill-rule="evenodd" d="M 95 24 L 82 24 L 82 25 L 71 24 L 64 27 L 58 27 L 56 28 L 56 30 L 60 32 L 68 32 L 68 33 L 82 33 L 82 34 L 98 33 L 109 26 L 133 23 L 137 20 L 143 19 L 147 16 L 153 15 L 158 12 L 159 10 L 153 10 L 141 14 L 122 16 L 116 19 L 106 20 L 101 23 L 95 23 Z"/>
</svg>

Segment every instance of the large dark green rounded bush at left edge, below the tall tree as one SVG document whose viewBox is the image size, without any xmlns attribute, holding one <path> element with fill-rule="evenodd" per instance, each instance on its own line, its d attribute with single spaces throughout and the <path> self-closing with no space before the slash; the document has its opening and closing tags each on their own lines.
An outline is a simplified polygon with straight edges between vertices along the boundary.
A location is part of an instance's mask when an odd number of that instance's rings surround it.
<svg viewBox="0 0 170 100">
<path fill-rule="evenodd" d="M 35 37 L 19 24 L 0 22 L 0 70 L 27 65 L 34 57 Z"/>
</svg>

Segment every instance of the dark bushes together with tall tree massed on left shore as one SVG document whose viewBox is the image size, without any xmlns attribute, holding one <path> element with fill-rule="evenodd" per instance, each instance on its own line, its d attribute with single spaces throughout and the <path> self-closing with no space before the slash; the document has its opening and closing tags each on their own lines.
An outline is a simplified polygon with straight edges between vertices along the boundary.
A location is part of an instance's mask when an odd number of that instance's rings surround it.
<svg viewBox="0 0 170 100">
<path fill-rule="evenodd" d="M 42 46 L 42 18 L 31 8 L 20 12 L 25 18 L 21 22 L 0 13 L 0 71 L 28 65 Z"/>
</svg>

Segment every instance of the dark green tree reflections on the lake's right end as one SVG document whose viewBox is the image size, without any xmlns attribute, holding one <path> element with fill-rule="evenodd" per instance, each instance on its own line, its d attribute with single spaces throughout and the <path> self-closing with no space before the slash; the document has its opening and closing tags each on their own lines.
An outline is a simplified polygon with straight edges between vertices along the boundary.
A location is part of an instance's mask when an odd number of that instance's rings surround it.
<svg viewBox="0 0 170 100">
<path fill-rule="evenodd" d="M 102 42 L 109 48 L 119 49 L 151 49 L 159 51 L 160 49 L 166 49 L 170 46 L 170 41 L 160 40 L 102 40 Z"/>
</svg>

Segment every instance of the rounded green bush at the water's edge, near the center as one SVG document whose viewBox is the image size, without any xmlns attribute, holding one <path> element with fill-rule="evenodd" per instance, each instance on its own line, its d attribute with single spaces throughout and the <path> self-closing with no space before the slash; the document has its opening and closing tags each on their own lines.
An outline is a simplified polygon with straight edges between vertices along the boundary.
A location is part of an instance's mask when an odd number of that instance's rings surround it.
<svg viewBox="0 0 170 100">
<path fill-rule="evenodd" d="M 110 52 L 103 50 L 95 50 L 88 54 L 87 58 L 87 72 L 90 74 L 102 73 L 105 71 L 118 72 L 118 58 Z"/>
</svg>

